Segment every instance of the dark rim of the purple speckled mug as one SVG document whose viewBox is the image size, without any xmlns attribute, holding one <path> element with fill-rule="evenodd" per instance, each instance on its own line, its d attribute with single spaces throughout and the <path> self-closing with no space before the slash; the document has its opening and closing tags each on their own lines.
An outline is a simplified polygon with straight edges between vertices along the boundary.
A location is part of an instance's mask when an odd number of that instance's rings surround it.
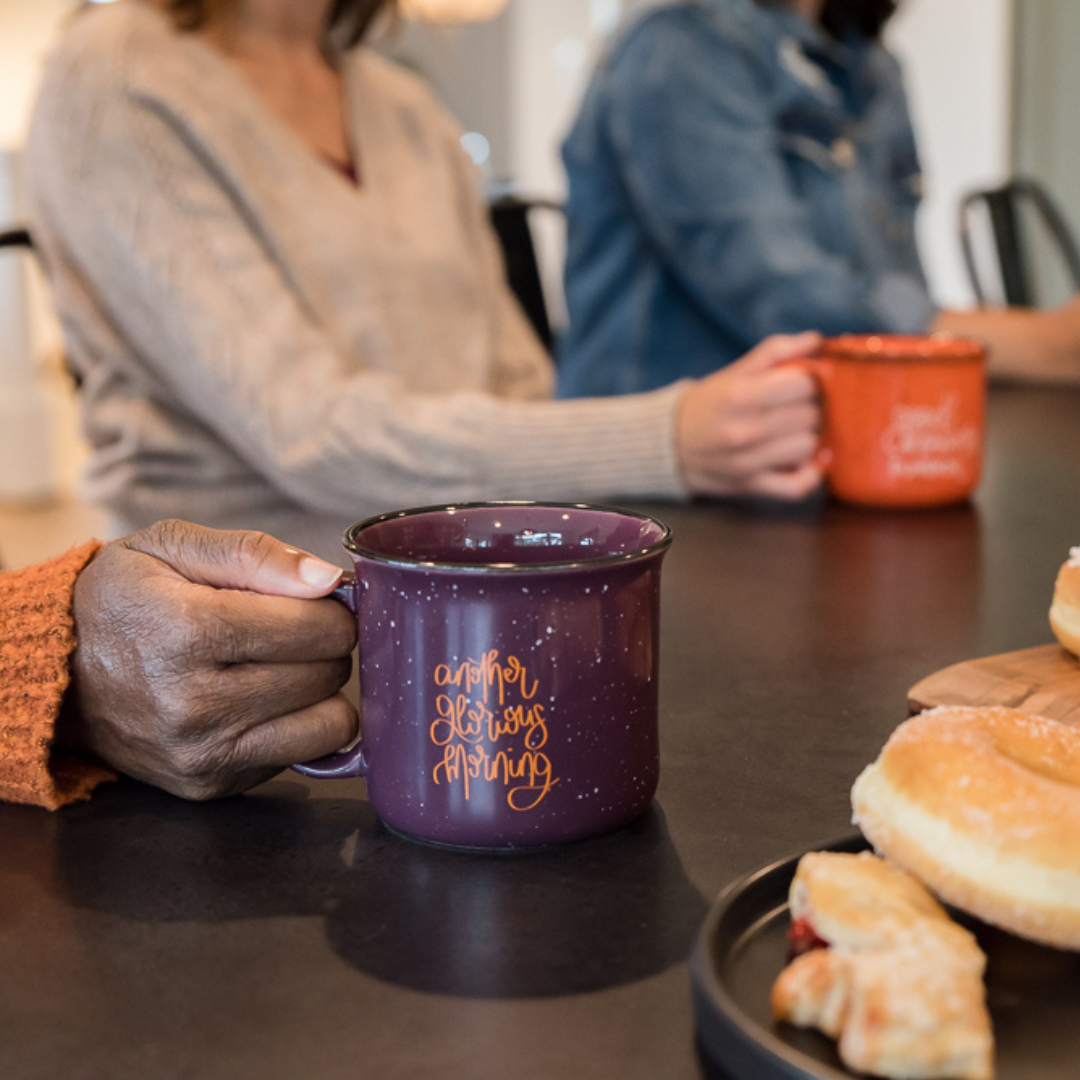
<svg viewBox="0 0 1080 1080">
<path fill-rule="evenodd" d="M 500 510 L 500 509 L 522 509 L 537 508 L 548 510 L 585 510 L 603 514 L 613 514 L 619 517 L 631 517 L 639 522 L 647 522 L 660 529 L 659 539 L 645 548 L 621 554 L 600 555 L 598 558 L 571 558 L 557 559 L 551 563 L 453 563 L 448 559 L 409 558 L 404 555 L 386 555 L 381 552 L 372 551 L 360 543 L 357 537 L 364 529 L 375 525 L 382 525 L 387 522 L 399 521 L 403 517 L 418 517 L 421 514 L 440 513 L 448 510 Z M 445 502 L 428 507 L 408 507 L 405 510 L 390 510 L 382 514 L 375 514 L 350 525 L 341 537 L 341 543 L 352 555 L 360 555 L 374 563 L 382 563 L 386 566 L 396 566 L 405 569 L 420 570 L 454 570 L 459 573 L 536 573 L 538 570 L 583 570 L 594 569 L 602 566 L 615 566 L 625 563 L 634 563 L 649 558 L 671 546 L 671 526 L 653 517 L 651 514 L 640 513 L 636 510 L 625 510 L 622 507 L 611 507 L 595 502 L 557 502 L 541 501 L 531 499 L 491 499 L 472 502 Z"/>
</svg>

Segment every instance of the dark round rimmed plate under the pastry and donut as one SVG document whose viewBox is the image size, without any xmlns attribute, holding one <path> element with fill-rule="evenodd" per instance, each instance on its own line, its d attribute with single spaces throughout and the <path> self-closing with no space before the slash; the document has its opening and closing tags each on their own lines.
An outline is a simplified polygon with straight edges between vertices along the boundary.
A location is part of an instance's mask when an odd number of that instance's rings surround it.
<svg viewBox="0 0 1080 1080">
<path fill-rule="evenodd" d="M 862 851 L 861 836 L 814 851 Z M 690 971 L 698 1039 L 732 1080 L 848 1080 L 835 1043 L 773 1022 L 769 991 L 787 962 L 787 890 L 802 852 L 729 886 L 698 935 Z M 1080 1077 L 1080 954 L 1043 948 L 957 912 L 987 956 L 996 1080 Z"/>
</svg>

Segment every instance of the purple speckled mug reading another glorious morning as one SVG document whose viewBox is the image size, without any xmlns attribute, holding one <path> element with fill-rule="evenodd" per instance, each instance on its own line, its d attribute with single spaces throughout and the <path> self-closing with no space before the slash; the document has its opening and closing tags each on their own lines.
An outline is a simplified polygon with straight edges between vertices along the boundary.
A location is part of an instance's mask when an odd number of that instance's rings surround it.
<svg viewBox="0 0 1080 1080">
<path fill-rule="evenodd" d="M 667 526 L 607 507 L 422 507 L 351 526 L 363 737 L 295 768 L 365 777 L 391 829 L 541 848 L 637 818 L 659 774 Z"/>
</svg>

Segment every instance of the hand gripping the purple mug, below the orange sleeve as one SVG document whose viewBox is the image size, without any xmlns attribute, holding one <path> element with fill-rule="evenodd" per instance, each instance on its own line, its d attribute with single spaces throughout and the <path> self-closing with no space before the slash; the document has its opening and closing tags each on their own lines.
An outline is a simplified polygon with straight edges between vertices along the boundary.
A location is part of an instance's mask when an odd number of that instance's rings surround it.
<svg viewBox="0 0 1080 1080">
<path fill-rule="evenodd" d="M 162 522 L 75 589 L 56 743 L 185 798 L 230 795 L 356 734 L 337 567 L 260 532 Z"/>
</svg>

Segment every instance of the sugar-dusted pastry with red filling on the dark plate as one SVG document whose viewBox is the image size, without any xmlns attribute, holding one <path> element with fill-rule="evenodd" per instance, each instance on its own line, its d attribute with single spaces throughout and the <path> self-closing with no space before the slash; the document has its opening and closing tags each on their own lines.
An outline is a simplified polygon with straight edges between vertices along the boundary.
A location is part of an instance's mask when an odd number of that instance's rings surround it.
<svg viewBox="0 0 1080 1080">
<path fill-rule="evenodd" d="M 778 1021 L 836 1039 L 858 1072 L 989 1080 L 986 958 L 918 880 L 869 852 L 811 852 L 788 903 L 796 955 L 772 988 Z"/>
</svg>

